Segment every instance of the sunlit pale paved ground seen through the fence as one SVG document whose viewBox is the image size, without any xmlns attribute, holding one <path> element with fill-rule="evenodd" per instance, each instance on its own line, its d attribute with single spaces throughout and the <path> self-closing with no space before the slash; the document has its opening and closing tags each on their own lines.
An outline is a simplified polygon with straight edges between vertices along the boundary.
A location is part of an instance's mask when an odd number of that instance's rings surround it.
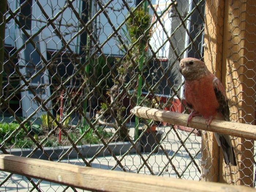
<svg viewBox="0 0 256 192">
<path fill-rule="evenodd" d="M 165 133 L 170 131 L 170 128 L 161 128 L 159 132 L 163 133 L 163 136 L 165 136 Z M 131 134 L 134 132 L 133 129 L 131 129 Z M 178 131 L 178 135 L 182 138 L 182 140 L 185 140 L 187 137 L 187 132 Z M 188 180 L 199 180 L 200 173 L 196 169 L 195 165 L 191 163 L 189 165 L 190 159 L 188 157 L 188 153 L 184 150 L 184 147 L 181 146 L 181 143 L 178 142 L 177 136 L 173 134 L 173 132 L 170 132 L 163 142 L 162 146 L 165 148 L 165 150 L 168 153 L 168 157 L 172 158 L 172 163 L 176 167 L 178 173 L 182 176 L 184 179 Z M 189 139 L 185 142 L 186 147 L 188 148 L 189 152 L 192 156 L 194 156 L 200 149 L 200 141 L 201 138 L 199 136 L 196 136 L 192 134 Z M 180 147 L 180 150 L 178 153 L 175 153 L 177 149 Z M 149 153 L 144 153 L 143 157 L 147 159 L 149 157 Z M 121 158 L 121 156 L 118 156 L 118 158 Z M 195 161 L 197 164 L 199 164 L 200 159 L 200 153 L 196 156 Z M 75 165 L 82 165 L 84 166 L 84 163 L 80 159 L 69 159 L 64 160 L 62 162 L 66 163 L 72 163 Z M 163 177 L 177 177 L 176 172 L 173 170 L 172 166 L 169 163 L 169 160 L 167 159 L 166 155 L 163 154 L 162 150 L 159 150 L 158 153 L 154 153 L 151 155 L 148 160 L 148 165 L 153 170 L 154 174 L 158 175 L 160 174 Z M 141 174 L 150 174 L 148 171 L 148 168 L 144 165 L 142 165 L 142 159 L 137 154 L 129 154 L 126 157 L 124 157 L 121 161 L 122 165 L 125 167 L 125 169 L 129 172 L 138 172 Z M 167 166 L 166 166 L 167 164 Z M 114 161 L 113 157 L 98 157 L 95 159 L 92 163 L 92 167 L 101 168 L 101 169 L 112 169 L 116 165 L 116 161 Z M 186 166 L 188 168 L 186 169 Z M 114 170 L 118 171 L 120 170 L 120 167 L 116 167 Z M 184 173 L 182 173 L 184 172 Z M 5 177 L 9 173 L 7 172 L 1 172 L 0 173 L 0 182 L 3 182 Z M 37 180 L 33 179 L 34 182 L 37 182 Z M 26 192 L 30 191 L 32 188 L 31 183 L 27 180 L 26 177 L 19 176 L 19 175 L 12 175 L 11 178 L 4 182 L 4 184 L 0 187 L 0 191 L 10 191 L 10 192 Z M 60 192 L 65 191 L 65 186 L 50 183 L 46 181 L 42 181 L 39 184 L 39 188 L 41 191 L 44 192 Z M 83 191 L 81 189 L 76 189 L 77 191 Z M 36 191 L 36 190 L 34 190 Z M 68 188 L 66 190 L 67 192 L 73 192 L 74 190 L 71 188 Z"/>
</svg>

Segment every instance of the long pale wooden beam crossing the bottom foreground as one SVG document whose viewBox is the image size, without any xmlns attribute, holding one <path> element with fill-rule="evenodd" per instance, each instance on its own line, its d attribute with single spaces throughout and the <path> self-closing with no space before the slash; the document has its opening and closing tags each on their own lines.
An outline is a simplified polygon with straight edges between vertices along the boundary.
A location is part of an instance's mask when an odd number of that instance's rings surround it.
<svg viewBox="0 0 256 192">
<path fill-rule="evenodd" d="M 0 170 L 85 190 L 105 192 L 251 192 L 255 189 L 214 182 L 189 181 L 102 170 L 41 159 L 0 155 Z"/>
</svg>

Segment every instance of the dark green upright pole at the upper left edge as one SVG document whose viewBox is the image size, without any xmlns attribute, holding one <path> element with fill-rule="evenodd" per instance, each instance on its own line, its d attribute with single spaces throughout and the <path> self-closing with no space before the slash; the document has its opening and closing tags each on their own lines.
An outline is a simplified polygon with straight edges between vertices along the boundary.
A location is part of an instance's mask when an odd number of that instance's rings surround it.
<svg viewBox="0 0 256 192">
<path fill-rule="evenodd" d="M 0 6 L 0 105 L 2 98 L 2 88 L 3 88 L 3 63 L 4 63 L 4 38 L 5 38 L 5 15 L 6 15 L 7 0 L 1 1 Z"/>
</svg>

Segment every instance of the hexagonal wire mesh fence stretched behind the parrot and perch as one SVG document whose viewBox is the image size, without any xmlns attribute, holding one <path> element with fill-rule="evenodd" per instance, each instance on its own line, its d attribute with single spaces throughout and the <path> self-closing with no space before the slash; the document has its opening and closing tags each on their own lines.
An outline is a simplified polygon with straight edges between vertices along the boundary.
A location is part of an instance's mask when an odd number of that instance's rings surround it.
<svg viewBox="0 0 256 192">
<path fill-rule="evenodd" d="M 3 14 L 1 153 L 200 180 L 205 133 L 140 119 L 130 110 L 139 105 L 189 113 L 178 65 L 185 57 L 207 63 L 212 60 L 206 51 L 222 52 L 206 50 L 206 38 L 224 36 L 211 34 L 211 25 L 213 31 L 226 29 L 224 21 L 208 21 L 205 26 L 211 6 L 215 4 L 207 4 L 206 11 L 204 0 L 8 0 Z M 229 6 L 230 13 L 243 11 L 235 4 Z M 247 5 L 242 13 L 249 14 L 253 6 Z M 237 25 L 229 23 L 234 36 L 230 41 L 235 46 L 225 56 L 249 66 L 247 71 L 230 63 L 227 73 L 223 68 L 211 70 L 222 73 L 219 77 L 229 82 L 226 90 L 232 120 L 254 124 L 255 66 L 247 65 L 244 60 L 248 57 L 237 48 L 241 38 L 236 30 L 245 22 L 243 14 L 234 17 L 240 20 Z M 218 12 L 215 15 L 224 17 Z M 209 37 L 204 37 L 205 31 Z M 255 46 L 253 33 L 248 44 Z M 255 50 L 250 58 L 248 62 L 256 61 Z M 240 75 L 245 75 L 243 81 Z M 251 90 L 247 95 L 251 103 L 240 97 L 244 89 Z M 247 114 L 246 108 L 253 113 Z M 252 186 L 254 143 L 233 141 L 241 156 L 248 148 L 242 151 L 239 147 L 251 146 L 251 167 L 238 167 L 234 173 L 244 169 L 243 177 L 249 179 L 245 185 Z M 248 161 L 247 157 L 241 159 Z M 244 179 L 225 177 L 228 183 Z M 0 183 L 1 191 L 80 190 L 7 172 L 0 173 Z"/>
</svg>

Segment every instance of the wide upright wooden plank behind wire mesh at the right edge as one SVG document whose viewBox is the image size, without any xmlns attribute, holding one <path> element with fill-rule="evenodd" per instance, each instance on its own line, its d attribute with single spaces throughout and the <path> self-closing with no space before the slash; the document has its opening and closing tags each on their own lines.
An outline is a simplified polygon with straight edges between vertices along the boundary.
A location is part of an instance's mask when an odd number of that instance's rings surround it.
<svg viewBox="0 0 256 192">
<path fill-rule="evenodd" d="M 249 124 L 255 122 L 255 6 L 255 0 L 226 0 L 222 54 L 222 79 L 230 98 L 231 120 Z M 233 145 L 240 163 L 236 169 L 223 165 L 220 182 L 252 186 L 253 141 L 236 138 Z"/>
</svg>

